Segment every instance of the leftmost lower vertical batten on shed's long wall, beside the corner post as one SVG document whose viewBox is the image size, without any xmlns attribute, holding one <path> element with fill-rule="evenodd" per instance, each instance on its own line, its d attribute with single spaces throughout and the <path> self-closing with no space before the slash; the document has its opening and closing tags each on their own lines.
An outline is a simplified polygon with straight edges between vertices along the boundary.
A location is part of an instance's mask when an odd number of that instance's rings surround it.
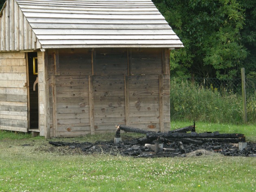
<svg viewBox="0 0 256 192">
<path fill-rule="evenodd" d="M 56 95 L 56 78 L 52 76 L 52 119 L 53 119 L 53 136 L 57 137 L 57 95 Z"/>
</svg>

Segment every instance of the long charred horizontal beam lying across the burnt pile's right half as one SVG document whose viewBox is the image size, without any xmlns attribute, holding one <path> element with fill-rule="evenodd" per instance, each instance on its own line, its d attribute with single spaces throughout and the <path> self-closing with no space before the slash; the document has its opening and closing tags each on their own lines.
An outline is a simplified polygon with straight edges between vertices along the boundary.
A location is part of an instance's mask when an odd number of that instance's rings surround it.
<svg viewBox="0 0 256 192">
<path fill-rule="evenodd" d="M 180 133 L 180 132 L 147 132 L 147 138 L 154 140 L 158 137 L 163 138 L 237 138 L 240 142 L 245 142 L 244 134 L 220 134 L 219 132 L 204 132 L 204 133 Z"/>
</svg>

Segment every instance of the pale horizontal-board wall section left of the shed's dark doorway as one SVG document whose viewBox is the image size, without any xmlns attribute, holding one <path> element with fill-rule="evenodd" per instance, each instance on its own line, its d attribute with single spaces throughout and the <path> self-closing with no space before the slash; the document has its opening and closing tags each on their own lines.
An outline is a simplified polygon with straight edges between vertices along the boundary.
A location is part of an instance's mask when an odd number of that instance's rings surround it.
<svg viewBox="0 0 256 192">
<path fill-rule="evenodd" d="M 27 132 L 25 53 L 0 52 L 0 129 Z"/>
</svg>

